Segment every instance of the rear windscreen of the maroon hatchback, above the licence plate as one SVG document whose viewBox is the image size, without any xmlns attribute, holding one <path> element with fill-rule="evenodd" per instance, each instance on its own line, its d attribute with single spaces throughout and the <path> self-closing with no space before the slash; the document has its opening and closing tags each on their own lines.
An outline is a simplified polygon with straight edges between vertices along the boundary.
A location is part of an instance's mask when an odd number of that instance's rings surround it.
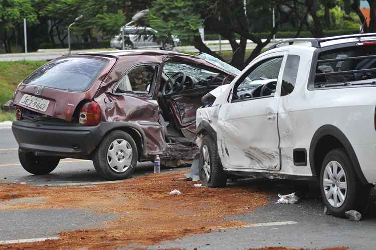
<svg viewBox="0 0 376 250">
<path fill-rule="evenodd" d="M 88 89 L 107 61 L 93 58 L 63 58 L 45 64 L 23 83 L 69 91 Z"/>
</svg>

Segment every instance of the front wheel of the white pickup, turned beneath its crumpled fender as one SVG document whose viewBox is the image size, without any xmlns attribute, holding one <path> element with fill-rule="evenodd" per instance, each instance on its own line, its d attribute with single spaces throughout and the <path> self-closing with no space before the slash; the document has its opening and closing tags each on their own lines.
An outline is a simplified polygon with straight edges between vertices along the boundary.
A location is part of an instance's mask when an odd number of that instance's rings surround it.
<svg viewBox="0 0 376 250">
<path fill-rule="evenodd" d="M 218 159 L 217 143 L 210 136 L 205 136 L 201 145 L 199 171 L 200 180 L 209 187 L 226 187 L 227 179 Z"/>
</svg>

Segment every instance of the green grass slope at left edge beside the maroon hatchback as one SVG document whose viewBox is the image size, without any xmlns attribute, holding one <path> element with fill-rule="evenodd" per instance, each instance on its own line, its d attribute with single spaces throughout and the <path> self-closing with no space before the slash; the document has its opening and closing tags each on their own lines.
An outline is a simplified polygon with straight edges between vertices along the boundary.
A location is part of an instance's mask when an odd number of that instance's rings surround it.
<svg viewBox="0 0 376 250">
<path fill-rule="evenodd" d="M 17 85 L 46 61 L 0 62 L 0 105 L 12 98 Z"/>
</svg>

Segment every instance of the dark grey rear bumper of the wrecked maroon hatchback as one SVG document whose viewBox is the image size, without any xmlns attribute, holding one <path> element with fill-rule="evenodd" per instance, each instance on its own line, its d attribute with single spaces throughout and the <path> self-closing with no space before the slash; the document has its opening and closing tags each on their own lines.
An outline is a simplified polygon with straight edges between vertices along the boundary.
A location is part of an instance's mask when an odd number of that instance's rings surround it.
<svg viewBox="0 0 376 250">
<path fill-rule="evenodd" d="M 12 132 L 20 150 L 37 155 L 87 158 L 105 135 L 102 124 L 79 126 L 78 124 L 38 123 L 16 120 Z"/>
</svg>

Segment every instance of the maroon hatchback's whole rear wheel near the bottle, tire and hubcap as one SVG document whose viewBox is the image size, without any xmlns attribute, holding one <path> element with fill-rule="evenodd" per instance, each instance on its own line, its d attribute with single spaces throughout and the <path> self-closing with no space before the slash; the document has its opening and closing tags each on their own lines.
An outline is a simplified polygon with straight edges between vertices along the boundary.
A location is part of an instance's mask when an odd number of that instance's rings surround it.
<svg viewBox="0 0 376 250">
<path fill-rule="evenodd" d="M 113 131 L 99 144 L 93 156 L 94 168 L 107 180 L 132 177 L 138 152 L 133 138 L 126 132 Z"/>
</svg>

